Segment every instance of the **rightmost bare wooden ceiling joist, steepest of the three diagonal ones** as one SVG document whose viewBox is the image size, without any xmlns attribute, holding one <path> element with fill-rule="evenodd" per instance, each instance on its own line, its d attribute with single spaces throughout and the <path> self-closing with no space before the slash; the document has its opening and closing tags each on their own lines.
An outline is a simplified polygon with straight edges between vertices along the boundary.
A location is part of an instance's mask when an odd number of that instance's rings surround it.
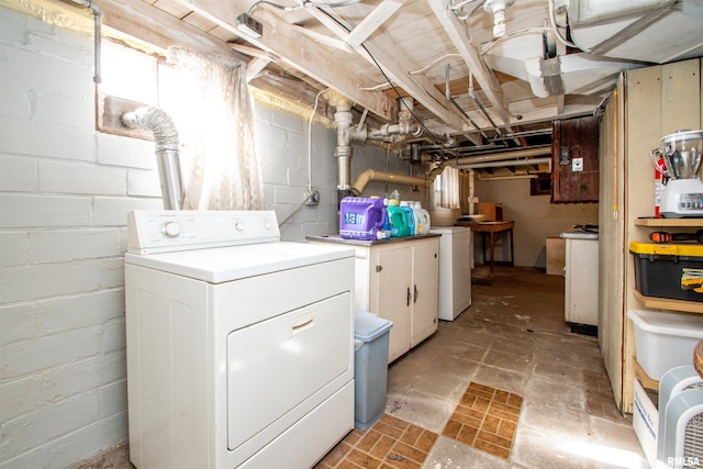
<svg viewBox="0 0 703 469">
<path fill-rule="evenodd" d="M 461 58 L 473 72 L 473 78 L 479 82 L 486 97 L 495 109 L 503 124 L 510 124 L 510 113 L 503 103 L 503 91 L 495 75 L 486 66 L 478 49 L 471 44 L 471 38 L 466 33 L 466 25 L 459 22 L 449 10 L 448 0 L 427 0 L 427 3 L 442 23 L 447 35 L 454 43 Z"/>
</svg>

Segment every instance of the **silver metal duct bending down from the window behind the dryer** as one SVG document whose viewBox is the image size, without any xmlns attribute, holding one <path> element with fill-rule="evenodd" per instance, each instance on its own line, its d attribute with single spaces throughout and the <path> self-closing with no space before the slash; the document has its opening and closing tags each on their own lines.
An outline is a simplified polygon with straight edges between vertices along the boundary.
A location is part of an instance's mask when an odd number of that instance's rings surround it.
<svg viewBox="0 0 703 469">
<path fill-rule="evenodd" d="M 183 203 L 183 183 L 180 176 L 178 131 L 171 118 L 158 108 L 146 107 L 122 115 L 122 123 L 129 129 L 143 129 L 154 133 L 164 209 L 180 210 Z"/>
</svg>

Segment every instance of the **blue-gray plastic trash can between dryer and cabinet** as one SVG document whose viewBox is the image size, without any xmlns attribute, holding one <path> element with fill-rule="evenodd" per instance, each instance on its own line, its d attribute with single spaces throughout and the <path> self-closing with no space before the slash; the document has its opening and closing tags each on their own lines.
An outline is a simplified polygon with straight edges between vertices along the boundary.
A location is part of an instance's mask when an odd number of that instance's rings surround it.
<svg viewBox="0 0 703 469">
<path fill-rule="evenodd" d="M 354 425 L 368 429 L 386 410 L 388 340 L 393 323 L 373 313 L 354 316 Z"/>
</svg>

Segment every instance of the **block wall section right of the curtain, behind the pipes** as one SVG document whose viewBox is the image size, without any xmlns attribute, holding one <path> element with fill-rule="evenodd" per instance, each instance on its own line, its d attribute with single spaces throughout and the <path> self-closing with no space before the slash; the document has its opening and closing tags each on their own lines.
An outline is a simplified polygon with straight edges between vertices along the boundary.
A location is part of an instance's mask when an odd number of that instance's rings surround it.
<svg viewBox="0 0 703 469">
<path fill-rule="evenodd" d="M 308 121 L 293 114 L 275 111 L 255 103 L 256 147 L 264 176 L 266 208 L 275 210 L 279 223 L 286 220 L 308 194 L 309 147 Z M 337 161 L 334 158 L 336 132 L 315 123 L 312 127 L 311 187 L 320 191 L 317 206 L 302 206 L 281 226 L 283 241 L 301 241 L 305 236 L 336 234 L 339 231 L 337 204 Z M 422 168 L 411 168 L 408 160 L 379 145 L 355 145 L 352 158 L 352 182 L 365 169 L 411 175 Z M 421 200 L 424 188 L 413 191 L 409 186 L 387 186 L 371 181 L 362 197 L 386 197 L 394 189 L 403 200 Z"/>
</svg>

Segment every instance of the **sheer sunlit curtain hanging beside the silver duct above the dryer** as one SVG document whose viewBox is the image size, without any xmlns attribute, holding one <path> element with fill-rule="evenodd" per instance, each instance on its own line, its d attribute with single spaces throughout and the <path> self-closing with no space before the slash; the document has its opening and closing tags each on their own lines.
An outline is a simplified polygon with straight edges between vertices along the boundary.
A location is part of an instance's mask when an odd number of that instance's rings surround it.
<svg viewBox="0 0 703 469">
<path fill-rule="evenodd" d="M 171 112 L 181 141 L 183 209 L 264 209 L 245 65 L 176 47 L 167 58 L 178 90 Z"/>
</svg>

